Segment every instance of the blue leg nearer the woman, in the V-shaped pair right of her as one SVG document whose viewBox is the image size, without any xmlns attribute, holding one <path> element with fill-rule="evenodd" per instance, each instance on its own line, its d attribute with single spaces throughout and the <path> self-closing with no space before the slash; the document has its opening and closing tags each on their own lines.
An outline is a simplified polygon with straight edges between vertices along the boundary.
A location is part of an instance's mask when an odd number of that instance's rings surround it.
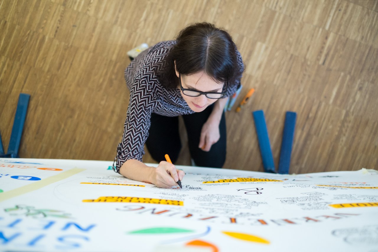
<svg viewBox="0 0 378 252">
<path fill-rule="evenodd" d="M 269 142 L 268 128 L 266 128 L 264 112 L 262 110 L 257 110 L 252 112 L 252 115 L 255 121 L 257 140 L 259 141 L 264 170 L 268 173 L 276 173 L 273 153 Z"/>
</svg>

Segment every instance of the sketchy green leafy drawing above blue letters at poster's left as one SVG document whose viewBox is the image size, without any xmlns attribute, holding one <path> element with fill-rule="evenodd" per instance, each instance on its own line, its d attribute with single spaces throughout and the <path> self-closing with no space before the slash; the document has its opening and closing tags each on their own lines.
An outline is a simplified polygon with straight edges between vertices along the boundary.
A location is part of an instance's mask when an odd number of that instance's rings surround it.
<svg viewBox="0 0 378 252">
<path fill-rule="evenodd" d="M 15 207 L 5 208 L 4 211 L 10 215 L 25 215 L 33 218 L 45 218 L 45 217 L 59 217 L 59 218 L 71 218 L 70 213 L 65 213 L 60 210 L 52 209 L 35 209 L 35 207 L 28 205 L 16 205 Z"/>
</svg>

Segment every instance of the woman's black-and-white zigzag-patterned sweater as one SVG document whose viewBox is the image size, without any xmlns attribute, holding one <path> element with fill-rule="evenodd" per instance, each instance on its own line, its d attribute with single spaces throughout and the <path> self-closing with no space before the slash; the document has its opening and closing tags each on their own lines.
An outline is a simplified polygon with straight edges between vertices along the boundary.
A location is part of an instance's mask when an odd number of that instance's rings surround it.
<svg viewBox="0 0 378 252">
<path fill-rule="evenodd" d="M 175 117 L 193 114 L 186 101 L 181 96 L 180 89 L 166 89 L 156 76 L 164 58 L 175 45 L 175 40 L 160 42 L 140 53 L 125 69 L 126 85 L 130 90 L 129 107 L 122 142 L 118 144 L 117 156 L 113 170 L 119 173 L 119 168 L 129 159 L 142 161 L 144 143 L 148 137 L 151 113 Z M 238 53 L 238 62 L 244 68 L 242 57 Z M 241 76 L 240 76 L 241 78 Z M 229 83 L 227 96 L 232 95 L 240 84 Z"/>
</svg>

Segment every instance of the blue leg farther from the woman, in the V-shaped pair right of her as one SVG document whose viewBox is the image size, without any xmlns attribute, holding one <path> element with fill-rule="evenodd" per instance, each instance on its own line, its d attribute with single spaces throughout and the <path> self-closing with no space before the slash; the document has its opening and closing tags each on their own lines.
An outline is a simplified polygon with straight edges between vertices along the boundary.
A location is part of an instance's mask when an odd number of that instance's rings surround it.
<svg viewBox="0 0 378 252">
<path fill-rule="evenodd" d="M 293 149 L 294 130 L 297 113 L 286 112 L 285 126 L 283 127 L 282 144 L 278 173 L 289 174 L 291 150 Z"/>
</svg>

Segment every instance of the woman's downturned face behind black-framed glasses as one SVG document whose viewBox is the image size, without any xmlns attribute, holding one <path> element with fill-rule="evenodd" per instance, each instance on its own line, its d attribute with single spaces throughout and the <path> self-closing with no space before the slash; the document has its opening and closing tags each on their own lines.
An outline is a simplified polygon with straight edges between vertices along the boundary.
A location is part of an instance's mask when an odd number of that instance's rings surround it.
<svg viewBox="0 0 378 252">
<path fill-rule="evenodd" d="M 176 75 L 177 78 L 179 78 L 180 75 L 177 71 Z M 222 92 L 223 88 L 223 83 L 214 81 L 204 72 L 198 72 L 192 75 L 181 75 L 181 85 L 184 89 L 193 89 L 202 92 Z M 180 86 L 178 89 L 180 89 Z M 181 89 L 180 92 L 186 103 L 194 112 L 201 112 L 206 109 L 206 107 L 218 100 L 209 99 L 205 95 L 200 95 L 197 97 L 187 96 L 183 94 Z"/>
</svg>

